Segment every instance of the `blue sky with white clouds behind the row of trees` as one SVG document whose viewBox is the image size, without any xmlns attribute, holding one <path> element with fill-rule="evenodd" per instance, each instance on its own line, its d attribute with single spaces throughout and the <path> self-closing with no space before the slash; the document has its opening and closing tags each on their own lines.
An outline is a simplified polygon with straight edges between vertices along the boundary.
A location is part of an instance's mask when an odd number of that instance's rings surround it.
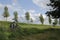
<svg viewBox="0 0 60 40">
<path fill-rule="evenodd" d="M 10 17 L 8 21 L 12 21 L 14 11 L 18 12 L 18 20 L 20 22 L 26 22 L 25 13 L 28 11 L 34 23 L 40 23 L 38 16 L 43 15 L 47 22 L 46 12 L 49 11 L 51 7 L 47 6 L 50 3 L 49 0 L 0 0 L 0 20 L 4 20 L 2 14 L 4 12 L 4 7 L 8 7 Z M 37 19 L 37 20 L 36 20 Z"/>
</svg>

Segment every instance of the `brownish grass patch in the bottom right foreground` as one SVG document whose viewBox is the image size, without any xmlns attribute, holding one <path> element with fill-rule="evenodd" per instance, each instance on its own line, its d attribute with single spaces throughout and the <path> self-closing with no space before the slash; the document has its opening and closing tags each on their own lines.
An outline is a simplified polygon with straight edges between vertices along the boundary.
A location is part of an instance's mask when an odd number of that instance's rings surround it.
<svg viewBox="0 0 60 40">
<path fill-rule="evenodd" d="M 59 32 L 48 31 L 24 37 L 23 40 L 60 40 Z"/>
</svg>

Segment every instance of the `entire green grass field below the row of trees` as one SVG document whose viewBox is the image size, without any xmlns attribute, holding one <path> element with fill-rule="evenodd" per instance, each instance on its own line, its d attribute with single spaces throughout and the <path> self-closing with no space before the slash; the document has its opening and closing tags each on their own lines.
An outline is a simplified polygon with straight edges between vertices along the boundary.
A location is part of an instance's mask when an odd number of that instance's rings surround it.
<svg viewBox="0 0 60 40">
<path fill-rule="evenodd" d="M 18 23 L 11 29 L 10 23 L 0 21 L 0 40 L 60 40 L 60 26 Z"/>
</svg>

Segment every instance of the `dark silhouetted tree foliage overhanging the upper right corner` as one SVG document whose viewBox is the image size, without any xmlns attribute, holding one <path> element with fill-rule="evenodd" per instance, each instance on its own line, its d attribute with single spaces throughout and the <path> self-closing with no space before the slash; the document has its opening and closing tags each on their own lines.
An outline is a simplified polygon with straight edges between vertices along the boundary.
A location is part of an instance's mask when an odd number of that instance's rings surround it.
<svg viewBox="0 0 60 40">
<path fill-rule="evenodd" d="M 47 5 L 51 6 L 53 9 L 47 11 L 46 14 L 51 15 L 52 18 L 59 18 L 59 23 L 60 23 L 60 0 L 50 0 L 50 3 Z"/>
</svg>

